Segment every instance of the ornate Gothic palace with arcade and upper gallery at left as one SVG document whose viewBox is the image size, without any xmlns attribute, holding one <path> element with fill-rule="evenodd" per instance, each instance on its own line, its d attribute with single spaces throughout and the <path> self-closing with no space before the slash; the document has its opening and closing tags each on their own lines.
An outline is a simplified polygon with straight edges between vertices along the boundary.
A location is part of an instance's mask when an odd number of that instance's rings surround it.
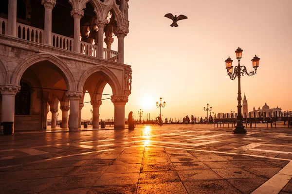
<svg viewBox="0 0 292 194">
<path fill-rule="evenodd" d="M 124 64 L 128 27 L 128 0 L 1 0 L 1 122 L 15 122 L 16 131 L 46 129 L 51 111 L 54 128 L 60 109 L 62 127 L 78 130 L 88 91 L 98 128 L 109 84 L 114 128 L 124 128 L 132 81 Z M 114 40 L 117 51 L 111 50 Z"/>
</svg>

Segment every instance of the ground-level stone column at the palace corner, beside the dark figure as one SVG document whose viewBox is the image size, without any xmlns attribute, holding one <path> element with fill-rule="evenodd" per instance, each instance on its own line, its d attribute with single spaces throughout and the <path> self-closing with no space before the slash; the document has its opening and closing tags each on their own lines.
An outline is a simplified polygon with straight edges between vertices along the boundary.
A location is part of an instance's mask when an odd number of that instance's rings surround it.
<svg viewBox="0 0 292 194">
<path fill-rule="evenodd" d="M 128 102 L 128 96 L 111 96 L 111 102 L 114 105 L 114 128 L 125 128 L 125 105 Z"/>
</svg>

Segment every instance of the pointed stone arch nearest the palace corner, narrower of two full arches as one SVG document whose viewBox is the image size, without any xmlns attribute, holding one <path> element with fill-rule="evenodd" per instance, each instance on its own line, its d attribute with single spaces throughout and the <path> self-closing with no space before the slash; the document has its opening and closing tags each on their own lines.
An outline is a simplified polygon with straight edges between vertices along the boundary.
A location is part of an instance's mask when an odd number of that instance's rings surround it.
<svg viewBox="0 0 292 194">
<path fill-rule="evenodd" d="M 116 75 L 110 71 L 109 68 L 105 67 L 105 66 L 94 66 L 92 68 L 90 68 L 89 70 L 85 71 L 79 81 L 78 84 L 78 90 L 82 91 L 84 84 L 87 80 L 87 78 L 89 78 L 89 76 L 91 76 L 91 74 L 95 73 L 95 72 L 101 72 L 103 73 L 108 80 L 108 83 L 110 84 L 110 87 L 112 89 L 112 94 L 113 95 L 123 95 L 123 88 L 121 87 L 118 78 L 116 77 Z"/>
</svg>

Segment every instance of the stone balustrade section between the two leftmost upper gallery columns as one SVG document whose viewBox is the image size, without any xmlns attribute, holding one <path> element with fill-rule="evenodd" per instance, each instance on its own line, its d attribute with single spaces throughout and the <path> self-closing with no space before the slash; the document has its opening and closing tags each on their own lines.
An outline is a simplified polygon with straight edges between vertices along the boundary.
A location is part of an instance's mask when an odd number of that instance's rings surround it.
<svg viewBox="0 0 292 194">
<path fill-rule="evenodd" d="M 44 31 L 25 24 L 16 23 L 18 38 L 43 44 Z"/>
</svg>

